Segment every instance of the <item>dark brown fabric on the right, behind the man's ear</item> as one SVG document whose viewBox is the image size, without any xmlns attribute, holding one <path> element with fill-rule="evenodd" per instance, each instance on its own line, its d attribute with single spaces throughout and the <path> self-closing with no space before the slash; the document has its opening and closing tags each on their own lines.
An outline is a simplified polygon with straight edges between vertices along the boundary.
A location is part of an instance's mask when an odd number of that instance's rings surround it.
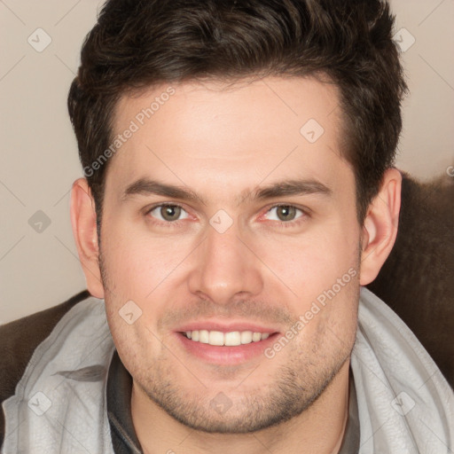
<svg viewBox="0 0 454 454">
<path fill-rule="evenodd" d="M 454 387 L 454 178 L 403 175 L 395 246 L 367 286 L 416 335 Z"/>
</svg>

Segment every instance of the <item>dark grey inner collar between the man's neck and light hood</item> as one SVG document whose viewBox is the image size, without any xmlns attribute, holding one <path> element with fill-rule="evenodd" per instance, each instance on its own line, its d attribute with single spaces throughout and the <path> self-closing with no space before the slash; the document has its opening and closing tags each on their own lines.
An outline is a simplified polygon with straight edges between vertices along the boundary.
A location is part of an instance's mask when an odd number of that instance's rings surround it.
<svg viewBox="0 0 454 454">
<path fill-rule="evenodd" d="M 132 378 L 115 350 L 107 378 L 107 415 L 115 454 L 143 454 L 132 424 L 131 393 Z M 355 454 L 358 450 L 358 411 L 355 384 L 350 371 L 348 422 L 339 454 Z"/>
</svg>

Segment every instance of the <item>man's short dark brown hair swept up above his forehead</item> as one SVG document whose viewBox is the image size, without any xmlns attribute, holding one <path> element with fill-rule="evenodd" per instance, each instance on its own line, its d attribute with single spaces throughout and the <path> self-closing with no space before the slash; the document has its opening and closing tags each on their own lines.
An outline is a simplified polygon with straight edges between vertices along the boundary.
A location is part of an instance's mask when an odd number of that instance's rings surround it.
<svg viewBox="0 0 454 454">
<path fill-rule="evenodd" d="M 379 0 L 108 0 L 82 46 L 68 109 L 83 168 L 112 137 L 121 95 L 163 82 L 323 75 L 340 92 L 358 220 L 392 167 L 407 87 Z M 106 165 L 86 175 L 102 214 Z"/>
</svg>

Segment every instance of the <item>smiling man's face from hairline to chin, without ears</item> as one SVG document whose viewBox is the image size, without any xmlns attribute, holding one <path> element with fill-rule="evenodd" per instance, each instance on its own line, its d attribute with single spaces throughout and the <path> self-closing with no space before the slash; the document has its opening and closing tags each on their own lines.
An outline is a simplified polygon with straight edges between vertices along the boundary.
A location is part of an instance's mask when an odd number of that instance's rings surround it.
<svg viewBox="0 0 454 454">
<path fill-rule="evenodd" d="M 338 93 L 303 78 L 172 89 L 115 111 L 114 136 L 134 132 L 106 176 L 108 322 L 135 392 L 175 419 L 270 427 L 348 370 L 355 340 L 361 228 Z"/>
</svg>

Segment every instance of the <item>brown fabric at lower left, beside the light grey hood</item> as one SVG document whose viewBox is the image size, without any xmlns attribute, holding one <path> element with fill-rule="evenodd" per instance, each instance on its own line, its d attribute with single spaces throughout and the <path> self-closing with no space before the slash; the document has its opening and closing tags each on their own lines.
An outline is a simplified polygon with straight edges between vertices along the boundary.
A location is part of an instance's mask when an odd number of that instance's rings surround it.
<svg viewBox="0 0 454 454">
<path fill-rule="evenodd" d="M 69 309 L 90 296 L 87 290 L 51 309 L 0 326 L 0 403 L 14 394 L 35 348 L 51 333 Z M 0 445 L 4 440 L 4 412 L 0 411 Z"/>
</svg>

